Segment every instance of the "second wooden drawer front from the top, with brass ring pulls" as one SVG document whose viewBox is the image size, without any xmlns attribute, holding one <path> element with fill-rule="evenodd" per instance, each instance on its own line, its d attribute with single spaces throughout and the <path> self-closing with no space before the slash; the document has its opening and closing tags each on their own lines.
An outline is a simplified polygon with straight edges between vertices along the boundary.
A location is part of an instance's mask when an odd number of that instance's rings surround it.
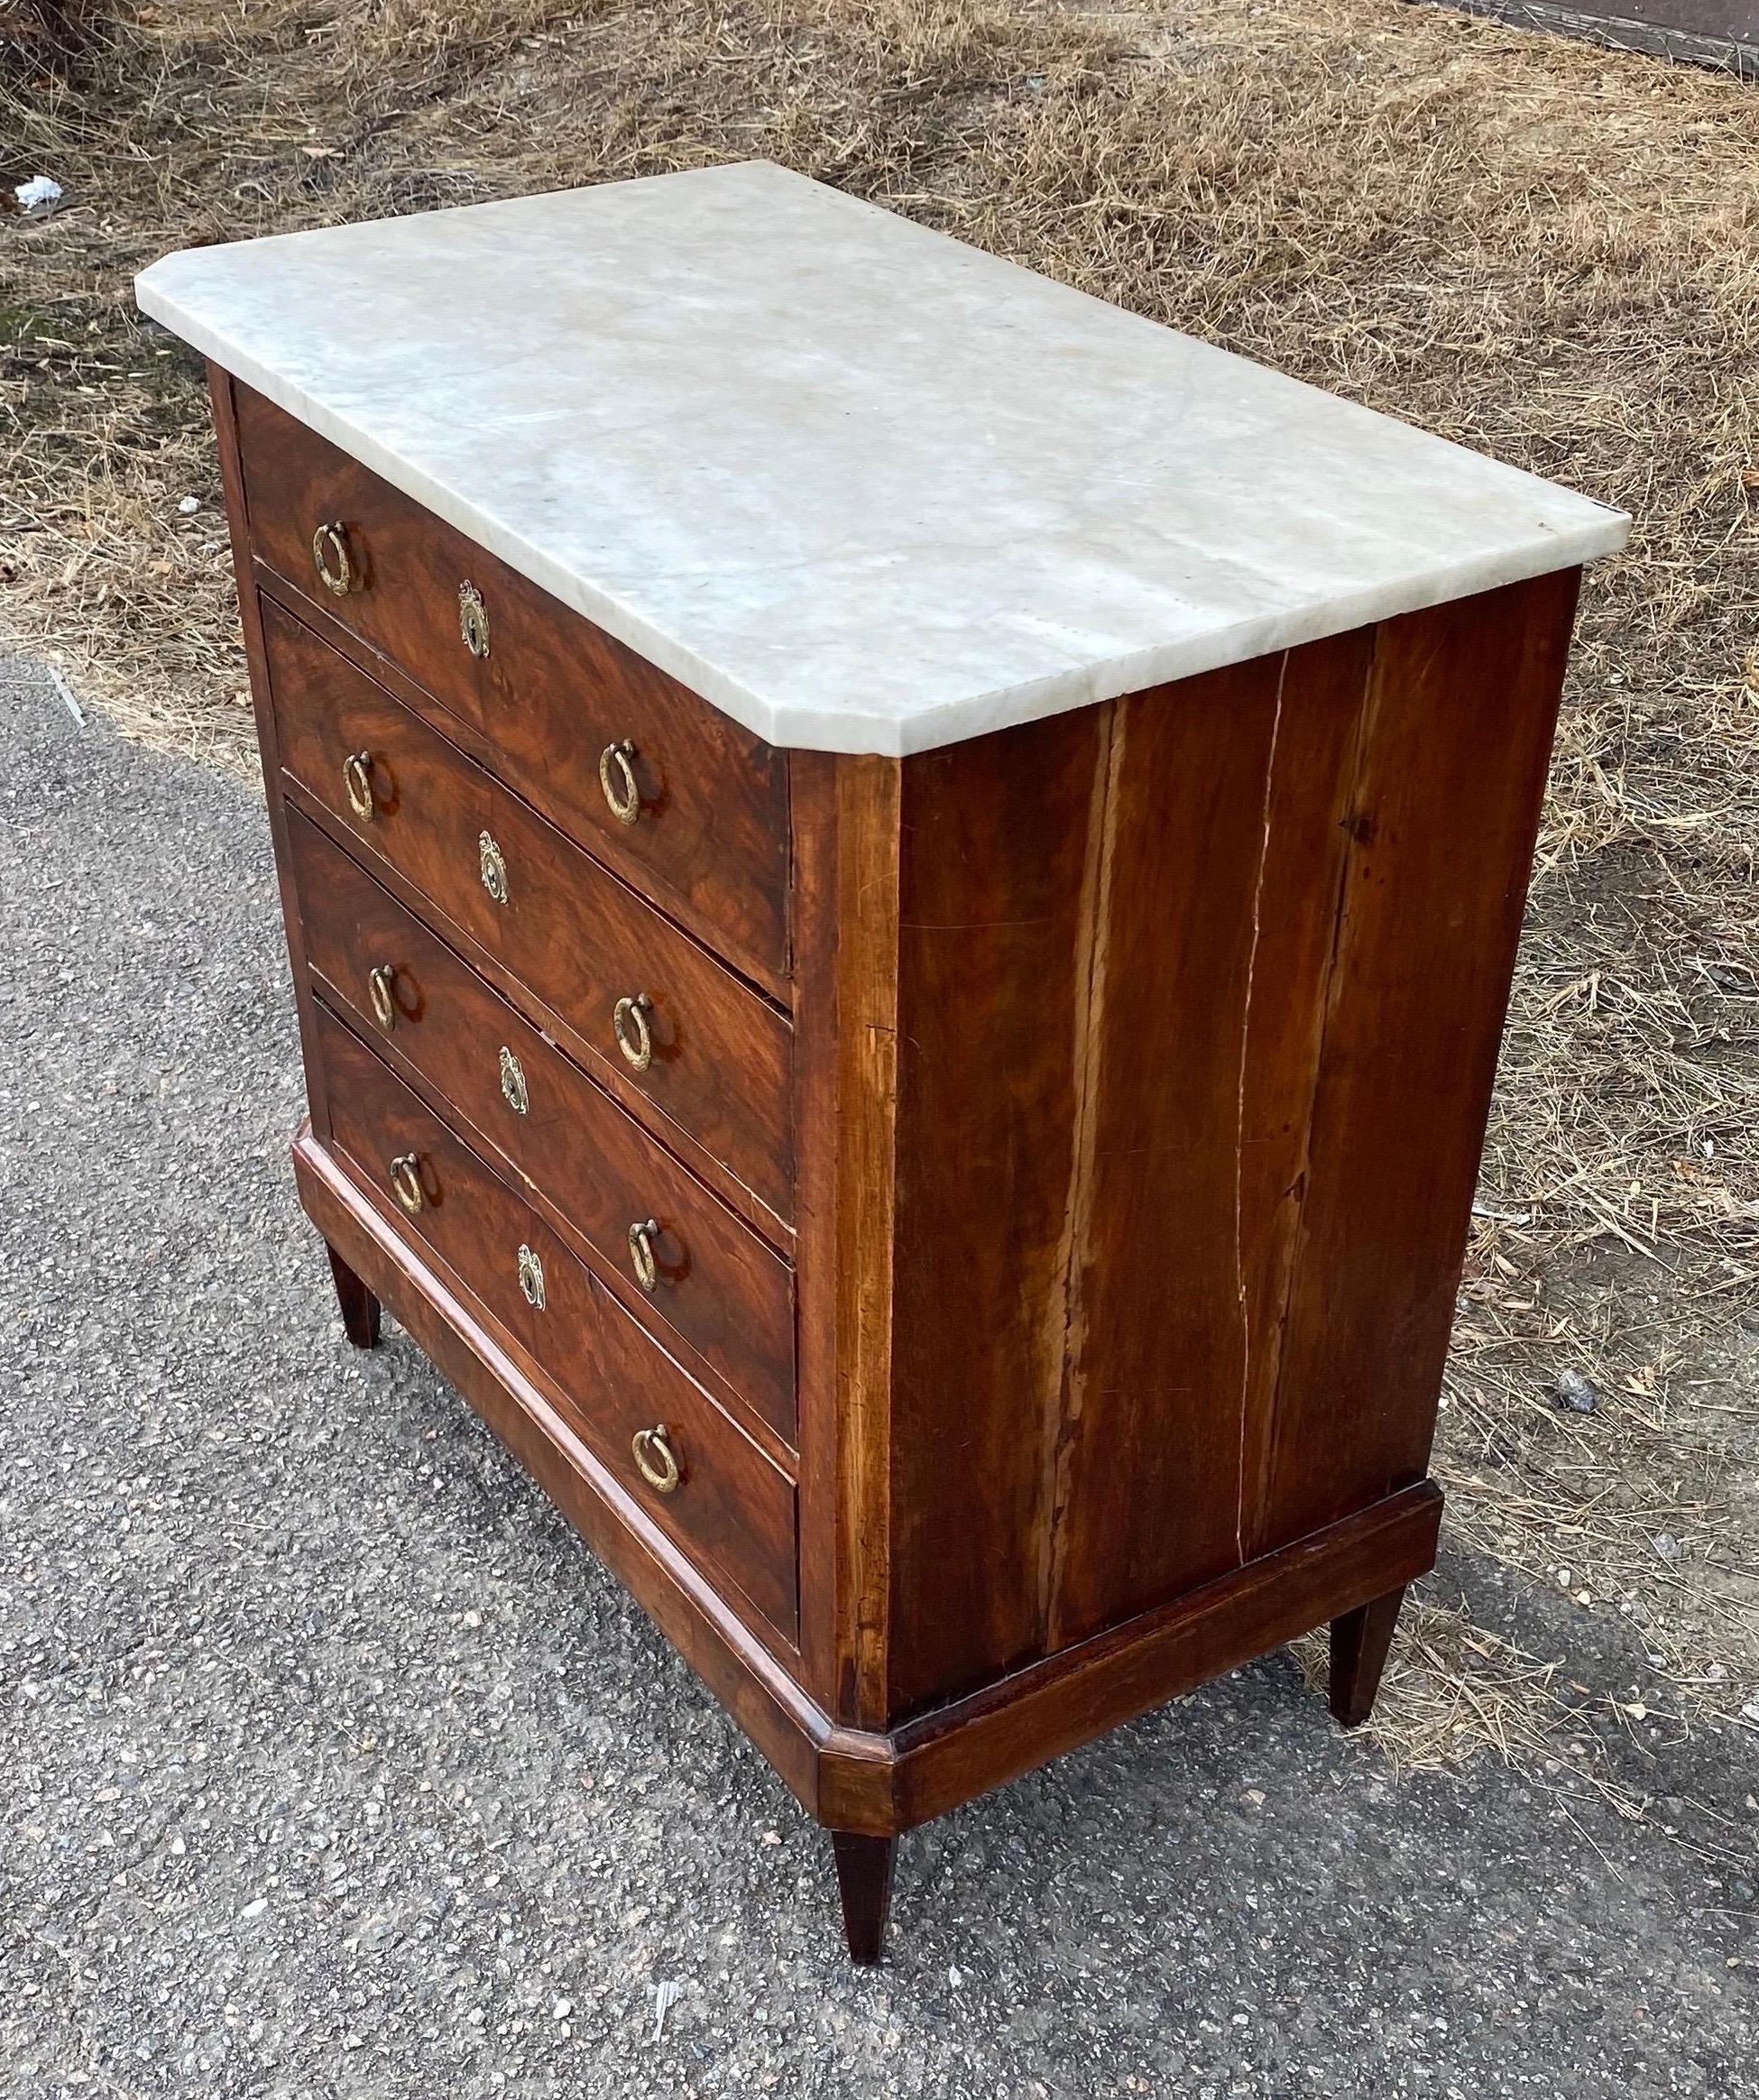
<svg viewBox="0 0 1759 2100">
<path fill-rule="evenodd" d="M 290 613 L 264 603 L 262 632 L 292 781 L 552 1008 L 619 1098 L 670 1117 L 785 1220 L 787 1016 Z M 355 754 L 372 815 L 351 798 Z M 644 1067 L 619 1025 L 636 1052 L 647 1035 Z"/>
</svg>

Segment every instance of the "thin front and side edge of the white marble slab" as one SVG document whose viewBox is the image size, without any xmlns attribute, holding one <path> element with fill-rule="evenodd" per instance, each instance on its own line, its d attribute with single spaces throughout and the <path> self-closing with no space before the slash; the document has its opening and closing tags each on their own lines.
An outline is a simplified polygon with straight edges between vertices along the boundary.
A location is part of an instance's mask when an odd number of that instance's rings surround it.
<svg viewBox="0 0 1759 2100">
<path fill-rule="evenodd" d="M 388 481 L 411 502 L 432 510 L 435 517 L 455 527 L 476 546 L 497 554 L 510 569 L 548 590 L 550 596 L 558 598 L 571 611 L 590 620 L 651 664 L 657 664 L 672 678 L 678 678 L 680 685 L 691 687 L 693 693 L 699 693 L 722 714 L 779 750 L 911 758 L 919 752 L 942 750 L 949 743 L 963 743 L 970 737 L 982 737 L 997 729 L 1014 729 L 1022 722 L 1066 714 L 1102 699 L 1119 699 L 1123 693 L 1148 691 L 1150 687 L 1171 685 L 1178 678 L 1194 678 L 1199 672 L 1222 670 L 1228 664 L 1247 664 L 1253 657 L 1295 649 L 1301 643 L 1324 640 L 1331 634 L 1348 634 L 1354 628 L 1392 620 L 1398 613 L 1415 613 L 1432 605 L 1446 605 L 1453 598 L 1495 590 L 1499 584 L 1522 584 L 1534 575 L 1549 575 L 1555 569 L 1572 569 L 1581 563 L 1616 554 L 1631 531 L 1627 512 L 1602 506 L 1604 517 L 1574 531 L 1537 533 L 1528 542 L 1499 546 L 1495 552 L 1471 561 L 1427 563 L 1408 575 L 1387 578 L 1364 590 L 1337 592 L 1320 605 L 1295 607 L 1259 620 L 1211 628 L 1186 640 L 1127 651 L 1102 664 L 1071 666 L 1064 672 L 1054 672 L 1024 685 L 968 693 L 938 708 L 913 710 L 909 716 L 894 716 L 884 710 L 865 712 L 856 697 L 840 697 L 831 708 L 821 712 L 800 704 L 777 704 L 754 693 L 716 664 L 653 628 L 619 598 L 596 590 L 571 569 L 544 554 L 542 548 L 531 546 L 531 542 L 523 540 L 491 512 L 485 512 L 476 502 L 460 498 L 455 489 L 428 479 L 407 460 L 388 454 L 367 433 L 327 410 L 321 401 L 304 393 L 304 388 L 294 386 L 256 359 L 241 357 L 237 346 L 227 342 L 218 330 L 166 296 L 153 284 L 151 269 L 134 279 L 134 296 L 143 313 L 172 330 L 172 334 L 181 336 L 204 357 L 210 357 L 235 380 L 241 380 L 273 401 L 275 407 L 309 424 L 319 437 L 330 439 L 332 445 L 359 460 L 361 466 Z"/>
</svg>

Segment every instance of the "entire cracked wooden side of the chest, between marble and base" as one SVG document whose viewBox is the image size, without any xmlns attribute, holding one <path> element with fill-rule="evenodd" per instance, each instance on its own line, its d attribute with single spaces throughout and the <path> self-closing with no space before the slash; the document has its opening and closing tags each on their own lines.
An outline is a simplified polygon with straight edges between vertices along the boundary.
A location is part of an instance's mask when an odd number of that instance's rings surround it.
<svg viewBox="0 0 1759 2100">
<path fill-rule="evenodd" d="M 880 1140 L 831 1170 L 871 1277 L 840 1392 L 871 1331 L 890 1438 L 840 1516 L 886 1556 L 840 1718 L 898 1726 L 1421 1478 L 1570 603 L 900 764 L 896 865 L 882 819 L 859 880 L 894 1069 L 848 1077 Z"/>
</svg>

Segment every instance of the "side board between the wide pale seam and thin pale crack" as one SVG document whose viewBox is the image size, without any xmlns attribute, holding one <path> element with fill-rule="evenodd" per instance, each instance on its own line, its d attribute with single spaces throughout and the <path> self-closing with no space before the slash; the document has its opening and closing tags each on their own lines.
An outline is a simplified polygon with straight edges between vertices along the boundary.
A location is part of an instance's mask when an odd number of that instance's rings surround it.
<svg viewBox="0 0 1759 2100">
<path fill-rule="evenodd" d="M 1241 1111 L 1283 657 L 1117 706 L 1050 1648 L 1241 1560 Z"/>
</svg>

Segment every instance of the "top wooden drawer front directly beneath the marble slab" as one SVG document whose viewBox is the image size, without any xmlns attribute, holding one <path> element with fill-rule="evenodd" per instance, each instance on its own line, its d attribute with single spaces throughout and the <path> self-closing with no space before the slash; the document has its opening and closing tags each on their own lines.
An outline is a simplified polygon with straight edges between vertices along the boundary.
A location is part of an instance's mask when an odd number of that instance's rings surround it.
<svg viewBox="0 0 1759 2100">
<path fill-rule="evenodd" d="M 785 976 L 787 756 L 302 422 L 235 393 L 256 554 L 481 729 L 489 766 L 571 838 L 733 962 Z"/>
</svg>

